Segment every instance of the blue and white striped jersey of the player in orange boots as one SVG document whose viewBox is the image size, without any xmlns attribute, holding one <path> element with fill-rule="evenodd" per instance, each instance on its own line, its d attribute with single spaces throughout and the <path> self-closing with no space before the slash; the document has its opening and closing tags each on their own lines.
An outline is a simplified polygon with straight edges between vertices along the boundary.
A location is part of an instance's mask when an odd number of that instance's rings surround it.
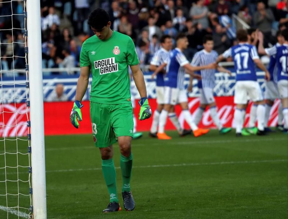
<svg viewBox="0 0 288 219">
<path fill-rule="evenodd" d="M 170 53 L 170 58 L 165 60 L 165 63 L 167 63 L 167 74 L 164 85 L 184 90 L 185 69 L 183 66 L 189 64 L 185 55 L 179 48 L 175 48 Z"/>
</svg>

